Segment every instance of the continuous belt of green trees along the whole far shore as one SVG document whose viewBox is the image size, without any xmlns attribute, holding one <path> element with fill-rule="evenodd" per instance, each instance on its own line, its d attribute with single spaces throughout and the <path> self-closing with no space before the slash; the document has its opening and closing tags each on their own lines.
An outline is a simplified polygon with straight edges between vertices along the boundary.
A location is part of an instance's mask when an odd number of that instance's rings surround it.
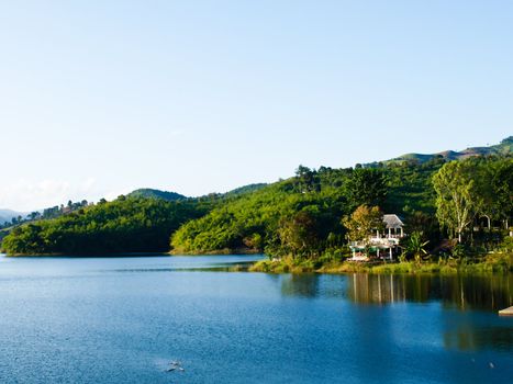
<svg viewBox="0 0 513 384">
<path fill-rule="evenodd" d="M 300 166 L 288 180 L 249 185 L 236 193 L 174 202 L 121 196 L 97 205 L 71 203 L 69 208 L 58 207 L 56 218 L 14 228 L 2 248 L 9 253 L 171 249 L 317 258 L 347 245 L 343 218 L 359 206 L 403 216 L 406 233 L 421 234 L 417 241 L 430 241 L 430 247 L 447 236 L 473 241 L 476 226 L 508 227 L 513 215 L 512 178 L 509 156 L 451 162 L 435 157 L 423 163 L 354 169 Z"/>
</svg>

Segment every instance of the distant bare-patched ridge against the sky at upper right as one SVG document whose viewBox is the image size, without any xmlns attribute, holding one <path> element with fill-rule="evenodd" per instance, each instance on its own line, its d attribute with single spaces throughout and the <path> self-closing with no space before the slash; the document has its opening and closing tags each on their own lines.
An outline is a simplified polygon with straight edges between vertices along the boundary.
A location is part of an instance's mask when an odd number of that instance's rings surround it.
<svg viewBox="0 0 513 384">
<path fill-rule="evenodd" d="M 473 156 L 509 156 L 513 155 L 513 136 L 510 136 L 508 138 L 504 138 L 500 144 L 492 145 L 489 147 L 471 147 L 464 149 L 461 151 L 455 151 L 455 150 L 444 150 L 437 154 L 431 154 L 431 155 L 425 155 L 425 154 L 406 154 L 402 155 L 400 157 L 381 161 L 383 163 L 401 163 L 401 162 L 419 162 L 419 163 L 424 163 L 426 161 L 433 160 L 435 158 L 443 158 L 445 160 L 451 161 L 451 160 L 462 160 L 469 157 Z M 370 165 L 376 165 L 378 162 L 371 162 Z"/>
</svg>

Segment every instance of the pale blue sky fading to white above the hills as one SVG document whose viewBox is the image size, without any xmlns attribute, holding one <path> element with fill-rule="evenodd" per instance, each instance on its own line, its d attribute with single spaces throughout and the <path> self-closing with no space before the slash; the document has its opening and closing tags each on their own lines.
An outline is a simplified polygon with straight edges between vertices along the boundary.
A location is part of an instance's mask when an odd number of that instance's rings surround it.
<svg viewBox="0 0 513 384">
<path fill-rule="evenodd" d="M 0 0 L 0 208 L 513 133 L 509 0 Z"/>
</svg>

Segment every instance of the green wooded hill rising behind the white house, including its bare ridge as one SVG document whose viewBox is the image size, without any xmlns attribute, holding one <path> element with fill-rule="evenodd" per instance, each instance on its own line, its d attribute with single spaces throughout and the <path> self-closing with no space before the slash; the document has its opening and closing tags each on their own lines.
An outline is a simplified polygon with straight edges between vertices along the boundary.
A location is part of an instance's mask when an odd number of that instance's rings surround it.
<svg viewBox="0 0 513 384">
<path fill-rule="evenodd" d="M 355 169 L 300 166 L 295 177 L 228 200 L 188 222 L 172 235 L 171 246 L 176 253 L 249 248 L 276 256 L 319 256 L 346 244 L 341 219 L 363 204 L 399 214 L 435 240 L 439 225 L 433 176 L 450 160 L 475 157 L 480 157 L 475 160 L 482 161 L 481 169 L 511 169 L 512 145 L 513 137 L 509 137 L 491 147 L 410 154 L 400 161 Z"/>
</svg>

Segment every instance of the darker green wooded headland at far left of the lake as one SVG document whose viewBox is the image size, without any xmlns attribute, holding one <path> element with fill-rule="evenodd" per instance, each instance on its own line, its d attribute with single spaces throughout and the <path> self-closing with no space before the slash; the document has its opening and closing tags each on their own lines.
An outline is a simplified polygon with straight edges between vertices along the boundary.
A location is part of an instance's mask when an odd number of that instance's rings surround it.
<svg viewBox="0 0 513 384">
<path fill-rule="evenodd" d="M 120 196 L 16 227 L 2 248 L 13 255 L 167 251 L 170 234 L 204 213 L 202 204 Z"/>
</svg>

